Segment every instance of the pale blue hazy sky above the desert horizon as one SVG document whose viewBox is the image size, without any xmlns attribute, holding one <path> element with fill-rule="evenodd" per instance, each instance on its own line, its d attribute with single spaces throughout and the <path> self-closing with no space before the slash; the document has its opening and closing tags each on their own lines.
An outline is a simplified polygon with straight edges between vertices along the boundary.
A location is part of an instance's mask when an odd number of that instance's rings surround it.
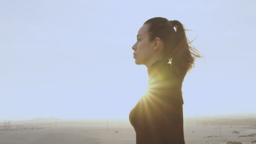
<svg viewBox="0 0 256 144">
<path fill-rule="evenodd" d="M 147 67 L 132 45 L 152 17 L 178 20 L 205 59 L 183 116 L 255 113 L 256 1 L 0 1 L 0 121 L 129 119 Z"/>
</svg>

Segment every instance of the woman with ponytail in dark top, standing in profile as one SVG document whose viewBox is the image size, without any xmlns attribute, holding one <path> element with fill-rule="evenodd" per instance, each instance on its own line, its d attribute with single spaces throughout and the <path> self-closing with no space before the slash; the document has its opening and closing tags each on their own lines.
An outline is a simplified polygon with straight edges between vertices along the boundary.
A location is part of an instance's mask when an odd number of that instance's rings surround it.
<svg viewBox="0 0 256 144">
<path fill-rule="evenodd" d="M 149 81 L 129 115 L 137 144 L 185 143 L 182 83 L 195 58 L 201 58 L 189 44 L 177 20 L 154 17 L 139 29 L 132 50 L 135 63 L 148 68 Z"/>
</svg>

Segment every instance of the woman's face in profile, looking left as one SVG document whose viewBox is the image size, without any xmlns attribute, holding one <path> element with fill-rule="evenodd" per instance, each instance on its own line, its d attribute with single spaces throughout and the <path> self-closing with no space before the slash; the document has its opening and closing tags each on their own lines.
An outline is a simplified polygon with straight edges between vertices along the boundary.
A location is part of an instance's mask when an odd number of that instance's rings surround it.
<svg viewBox="0 0 256 144">
<path fill-rule="evenodd" d="M 132 46 L 136 64 L 146 64 L 153 56 L 153 42 L 149 41 L 148 24 L 144 24 L 138 31 L 137 42 Z"/>
</svg>

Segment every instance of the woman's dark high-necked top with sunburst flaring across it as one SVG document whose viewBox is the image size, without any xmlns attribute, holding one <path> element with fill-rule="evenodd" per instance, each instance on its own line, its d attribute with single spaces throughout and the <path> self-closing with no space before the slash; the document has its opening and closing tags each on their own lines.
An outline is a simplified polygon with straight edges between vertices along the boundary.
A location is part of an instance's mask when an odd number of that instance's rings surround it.
<svg viewBox="0 0 256 144">
<path fill-rule="evenodd" d="M 171 65 L 160 59 L 148 75 L 147 91 L 129 115 L 136 144 L 184 144 L 182 91 Z"/>
</svg>

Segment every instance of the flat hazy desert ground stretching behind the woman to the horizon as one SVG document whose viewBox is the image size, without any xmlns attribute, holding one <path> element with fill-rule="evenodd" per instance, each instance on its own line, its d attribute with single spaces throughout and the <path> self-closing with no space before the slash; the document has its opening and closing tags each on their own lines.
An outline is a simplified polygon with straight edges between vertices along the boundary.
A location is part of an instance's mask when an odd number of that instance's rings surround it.
<svg viewBox="0 0 256 144">
<path fill-rule="evenodd" d="M 256 118 L 243 120 L 184 121 L 186 144 L 222 144 L 230 142 L 256 144 Z M 19 127 L 17 126 L 19 125 Z M 102 143 L 136 144 L 136 134 L 126 122 L 48 122 L 5 123 L 0 129 L 1 144 L 29 143 Z M 255 135 L 254 135 L 255 134 Z M 249 136 L 248 136 L 249 135 Z M 229 142 L 230 141 L 230 142 Z"/>
</svg>

